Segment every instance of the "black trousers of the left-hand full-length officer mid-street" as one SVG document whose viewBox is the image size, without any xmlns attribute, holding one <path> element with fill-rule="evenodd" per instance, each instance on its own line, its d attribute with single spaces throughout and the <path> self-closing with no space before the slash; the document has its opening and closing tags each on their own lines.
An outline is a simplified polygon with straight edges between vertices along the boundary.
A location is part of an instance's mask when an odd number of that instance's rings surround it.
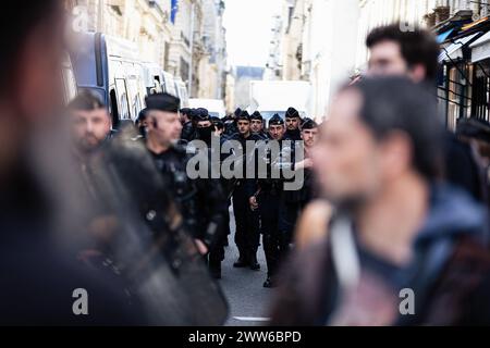
<svg viewBox="0 0 490 348">
<path fill-rule="evenodd" d="M 244 186 L 235 187 L 233 192 L 233 212 L 235 214 L 235 244 L 241 258 L 248 259 L 257 252 L 260 244 L 258 214 L 250 210 L 249 197 Z"/>
</svg>

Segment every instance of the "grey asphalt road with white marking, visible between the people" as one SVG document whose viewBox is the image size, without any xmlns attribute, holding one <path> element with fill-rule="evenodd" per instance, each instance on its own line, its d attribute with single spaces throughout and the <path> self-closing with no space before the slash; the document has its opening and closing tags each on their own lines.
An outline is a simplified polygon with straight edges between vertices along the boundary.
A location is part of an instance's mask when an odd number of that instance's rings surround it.
<svg viewBox="0 0 490 348">
<path fill-rule="evenodd" d="M 231 231 L 230 246 L 225 248 L 225 260 L 222 263 L 222 279 L 220 284 L 228 298 L 230 316 L 228 326 L 258 326 L 267 325 L 267 314 L 273 289 L 262 286 L 267 277 L 266 258 L 262 246 L 259 247 L 257 259 L 260 271 L 249 269 L 234 269 L 233 263 L 238 259 L 238 250 L 234 243 L 234 216 L 230 211 Z"/>
</svg>

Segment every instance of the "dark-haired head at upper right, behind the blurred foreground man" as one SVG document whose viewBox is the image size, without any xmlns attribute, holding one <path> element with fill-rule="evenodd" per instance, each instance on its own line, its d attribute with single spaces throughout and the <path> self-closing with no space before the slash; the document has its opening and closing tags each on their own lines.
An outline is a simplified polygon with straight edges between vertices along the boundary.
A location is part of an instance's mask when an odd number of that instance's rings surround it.
<svg viewBox="0 0 490 348">
<path fill-rule="evenodd" d="M 437 78 L 440 48 L 429 32 L 402 30 L 400 24 L 381 26 L 368 35 L 366 45 L 369 76 L 403 75 L 415 83 L 431 84 Z"/>
</svg>

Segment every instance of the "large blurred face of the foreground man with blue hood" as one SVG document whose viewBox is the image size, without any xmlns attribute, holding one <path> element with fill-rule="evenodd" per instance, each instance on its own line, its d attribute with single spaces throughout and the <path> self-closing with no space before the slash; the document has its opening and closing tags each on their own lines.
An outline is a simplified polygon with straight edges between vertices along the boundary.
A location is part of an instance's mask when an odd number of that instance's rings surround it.
<svg viewBox="0 0 490 348">
<path fill-rule="evenodd" d="M 339 95 L 313 153 L 318 181 L 333 202 L 358 202 L 380 187 L 380 151 L 372 135 L 358 121 L 360 108 L 357 91 Z"/>
</svg>

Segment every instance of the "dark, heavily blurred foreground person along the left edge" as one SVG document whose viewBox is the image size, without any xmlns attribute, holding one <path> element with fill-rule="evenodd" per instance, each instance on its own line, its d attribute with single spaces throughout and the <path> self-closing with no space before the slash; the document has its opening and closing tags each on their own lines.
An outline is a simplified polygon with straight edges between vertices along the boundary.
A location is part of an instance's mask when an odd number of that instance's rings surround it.
<svg viewBox="0 0 490 348">
<path fill-rule="evenodd" d="M 74 183 L 59 154 L 70 148 L 58 137 L 65 129 L 57 128 L 63 14 L 56 0 L 11 3 L 0 14 L 0 324 L 143 324 L 121 288 L 56 235 L 68 208 L 59 199 Z M 86 308 L 75 303 L 82 294 Z"/>
</svg>

